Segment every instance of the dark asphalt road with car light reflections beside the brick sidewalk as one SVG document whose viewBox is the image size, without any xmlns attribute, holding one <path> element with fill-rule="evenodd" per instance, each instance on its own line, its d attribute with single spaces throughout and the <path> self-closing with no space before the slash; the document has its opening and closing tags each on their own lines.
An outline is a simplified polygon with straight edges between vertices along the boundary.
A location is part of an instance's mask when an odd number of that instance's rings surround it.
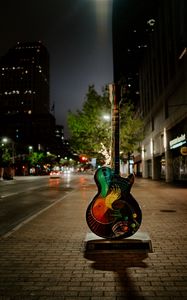
<svg viewBox="0 0 187 300">
<path fill-rule="evenodd" d="M 0 236 L 41 212 L 76 188 L 78 175 L 16 178 L 0 182 Z"/>
</svg>

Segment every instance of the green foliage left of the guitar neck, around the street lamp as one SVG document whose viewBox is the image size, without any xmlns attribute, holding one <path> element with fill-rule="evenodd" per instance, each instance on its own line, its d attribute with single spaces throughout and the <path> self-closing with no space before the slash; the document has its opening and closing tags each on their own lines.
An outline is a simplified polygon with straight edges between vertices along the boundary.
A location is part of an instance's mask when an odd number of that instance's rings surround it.
<svg viewBox="0 0 187 300">
<path fill-rule="evenodd" d="M 110 103 L 106 91 L 99 95 L 94 86 L 88 88 L 86 101 L 82 111 L 68 113 L 68 127 L 71 133 L 71 147 L 78 154 L 93 156 L 99 153 L 101 142 L 109 145 L 109 124 L 102 119 L 103 115 L 110 114 Z"/>
</svg>

